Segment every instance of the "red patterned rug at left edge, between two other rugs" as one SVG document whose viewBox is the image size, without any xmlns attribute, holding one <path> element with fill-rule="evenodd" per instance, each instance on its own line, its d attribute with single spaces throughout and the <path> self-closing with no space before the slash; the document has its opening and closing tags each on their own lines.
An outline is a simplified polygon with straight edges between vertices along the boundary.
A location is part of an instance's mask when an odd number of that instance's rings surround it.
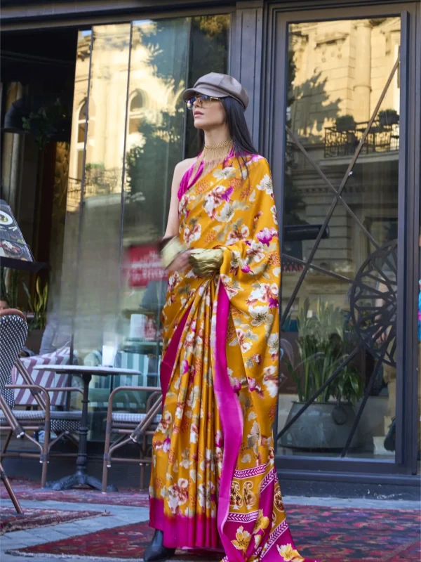
<svg viewBox="0 0 421 562">
<path fill-rule="evenodd" d="M 102 513 L 100 511 L 61 511 L 28 507 L 25 507 L 23 511 L 23 514 L 18 514 L 13 507 L 0 507 L 0 535 L 4 535 L 5 532 L 51 527 L 51 525 L 59 523 L 109 515 L 107 511 Z"/>
</svg>

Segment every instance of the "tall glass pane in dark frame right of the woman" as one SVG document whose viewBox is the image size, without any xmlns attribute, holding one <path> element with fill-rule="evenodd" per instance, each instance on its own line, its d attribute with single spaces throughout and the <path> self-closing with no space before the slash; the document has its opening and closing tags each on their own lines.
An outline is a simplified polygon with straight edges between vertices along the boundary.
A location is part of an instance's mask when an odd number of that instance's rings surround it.
<svg viewBox="0 0 421 562">
<path fill-rule="evenodd" d="M 352 309 L 358 296 L 351 296 L 366 290 L 357 285 L 366 280 L 362 268 L 370 256 L 397 237 L 400 96 L 399 72 L 392 71 L 400 19 L 305 22 L 288 31 L 282 300 L 290 353 L 283 356 L 279 430 L 349 353 L 359 351 L 283 433 L 279 452 L 338 455 L 347 445 L 347 454 L 393 459 L 388 433 L 396 410 L 396 368 L 378 353 L 385 343 L 382 319 L 392 318 L 382 314 L 391 306 L 382 273 L 364 294 L 371 307 L 365 317 L 370 338 L 361 339 L 354 325 L 363 309 Z M 294 228 L 303 234 L 291 237 Z M 323 236 L 315 242 L 320 230 Z M 396 272 L 389 279 L 384 252 L 381 260 L 396 301 Z M 382 337 L 390 329 L 385 326 Z M 389 339 L 385 346 L 392 351 Z M 360 405 L 361 419 L 349 440 Z"/>
</svg>

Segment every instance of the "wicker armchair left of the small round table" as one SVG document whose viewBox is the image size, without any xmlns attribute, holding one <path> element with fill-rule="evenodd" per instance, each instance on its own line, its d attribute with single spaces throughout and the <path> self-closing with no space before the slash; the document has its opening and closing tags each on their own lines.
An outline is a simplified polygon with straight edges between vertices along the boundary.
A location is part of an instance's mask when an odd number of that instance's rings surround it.
<svg viewBox="0 0 421 562">
<path fill-rule="evenodd" d="M 19 311 L 4 311 L 9 313 L 2 318 L 12 318 L 13 315 Z M 10 314 L 12 312 L 12 314 Z M 19 313 L 22 315 L 22 313 Z M 23 317 L 23 315 L 22 315 Z M 24 322 L 20 318 L 20 321 Z M 10 323 L 10 321 L 9 321 Z M 11 348 L 11 341 L 13 336 L 11 330 L 7 329 L 7 322 L 1 325 L 1 356 L 8 356 L 9 348 Z M 25 322 L 26 326 L 26 322 Z M 25 336 L 26 339 L 26 336 Z M 25 343 L 25 339 L 24 342 Z M 23 344 L 20 346 L 22 348 Z M 20 349 L 19 349 L 20 351 Z M 18 351 L 18 353 L 19 353 Z M 0 453 L 0 461 L 7 457 L 27 457 L 39 459 L 42 464 L 41 470 L 41 488 L 46 485 L 48 459 L 51 456 L 51 448 L 58 440 L 64 436 L 69 436 L 72 439 L 72 433 L 79 431 L 81 412 L 79 410 L 72 412 L 59 412 L 52 411 L 50 406 L 50 392 L 79 392 L 82 393 L 81 388 L 76 387 L 61 387 L 61 388 L 44 388 L 33 383 L 31 376 L 25 369 L 20 359 L 13 358 L 15 367 L 18 369 L 25 384 L 10 384 L 11 383 L 11 369 L 2 370 L 2 377 L 4 379 L 4 388 L 1 390 L 0 396 L 0 431 L 7 432 L 6 439 L 4 440 L 3 447 Z M 13 367 L 13 363 L 11 365 Z M 15 410 L 14 408 L 14 393 L 15 389 L 27 389 L 32 393 L 38 407 L 37 410 Z M 32 433 L 44 430 L 44 443 L 39 443 Z M 54 431 L 56 437 L 51 440 L 51 431 Z M 8 445 L 11 442 L 13 435 L 16 438 L 26 438 L 33 445 L 35 451 L 18 451 L 8 452 Z M 74 439 L 72 439 L 74 440 Z M 76 443 L 76 442 L 75 442 Z M 62 456 L 75 457 L 75 453 L 60 453 Z"/>
</svg>

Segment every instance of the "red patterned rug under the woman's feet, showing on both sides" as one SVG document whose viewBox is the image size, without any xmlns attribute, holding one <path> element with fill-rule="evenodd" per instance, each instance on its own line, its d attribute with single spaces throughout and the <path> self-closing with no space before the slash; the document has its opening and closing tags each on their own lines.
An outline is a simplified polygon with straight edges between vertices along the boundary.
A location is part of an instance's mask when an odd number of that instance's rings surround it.
<svg viewBox="0 0 421 562">
<path fill-rule="evenodd" d="M 419 562 L 420 514 L 417 511 L 290 507 L 288 521 L 302 556 L 323 562 Z M 140 560 L 152 537 L 147 523 L 123 525 L 11 551 L 20 556 L 123 558 Z M 216 561 L 218 554 L 178 552 L 178 561 Z"/>
</svg>

